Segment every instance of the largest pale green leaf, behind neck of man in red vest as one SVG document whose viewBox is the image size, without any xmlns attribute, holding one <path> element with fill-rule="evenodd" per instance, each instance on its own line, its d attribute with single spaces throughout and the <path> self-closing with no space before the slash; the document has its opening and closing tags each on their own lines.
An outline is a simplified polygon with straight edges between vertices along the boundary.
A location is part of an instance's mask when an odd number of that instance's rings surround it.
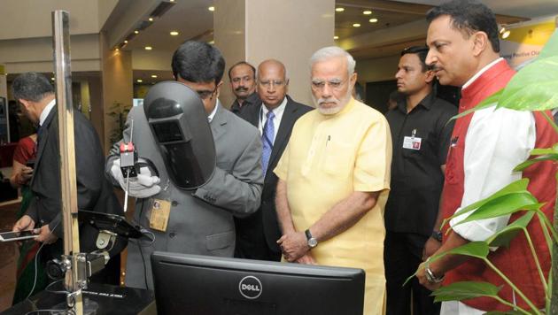
<svg viewBox="0 0 558 315">
<path fill-rule="evenodd" d="M 544 111 L 558 107 L 558 56 L 537 58 L 508 82 L 498 107 L 516 111 Z"/>
</svg>

